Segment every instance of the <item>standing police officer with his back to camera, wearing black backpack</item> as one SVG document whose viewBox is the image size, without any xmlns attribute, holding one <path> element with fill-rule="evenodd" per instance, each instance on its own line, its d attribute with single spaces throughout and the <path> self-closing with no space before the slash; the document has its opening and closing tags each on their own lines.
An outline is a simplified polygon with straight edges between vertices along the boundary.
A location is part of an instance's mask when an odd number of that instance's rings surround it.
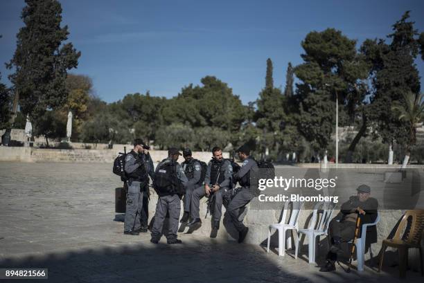
<svg viewBox="0 0 424 283">
<path fill-rule="evenodd" d="M 157 244 L 161 238 L 162 228 L 166 214 L 169 214 L 169 229 L 166 235 L 168 244 L 181 244 L 182 241 L 177 239 L 178 219 L 181 210 L 180 198 L 187 188 L 188 179 L 184 174 L 184 170 L 177 163 L 181 154 L 178 149 L 171 147 L 168 149 L 168 158 L 165 158 L 156 167 L 154 172 L 154 190 L 159 195 L 157 200 L 156 212 L 154 214 L 154 223 L 152 227 L 153 244 Z M 175 188 L 177 184 L 178 188 Z"/>
</svg>

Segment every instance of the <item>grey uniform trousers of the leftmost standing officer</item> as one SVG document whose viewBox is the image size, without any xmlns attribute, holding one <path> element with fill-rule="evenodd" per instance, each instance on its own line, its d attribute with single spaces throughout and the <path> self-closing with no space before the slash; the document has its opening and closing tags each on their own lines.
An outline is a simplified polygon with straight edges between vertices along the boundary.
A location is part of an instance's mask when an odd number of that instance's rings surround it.
<svg viewBox="0 0 424 283">
<path fill-rule="evenodd" d="M 143 192 L 140 192 L 140 182 L 128 182 L 124 231 L 137 230 L 140 228 L 140 217 L 142 208 Z"/>
</svg>

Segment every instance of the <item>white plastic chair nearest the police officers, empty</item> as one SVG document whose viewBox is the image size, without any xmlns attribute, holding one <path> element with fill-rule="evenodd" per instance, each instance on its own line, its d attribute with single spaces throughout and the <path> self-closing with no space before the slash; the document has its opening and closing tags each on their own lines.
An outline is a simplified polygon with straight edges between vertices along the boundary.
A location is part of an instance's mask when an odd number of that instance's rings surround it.
<svg viewBox="0 0 424 283">
<path fill-rule="evenodd" d="M 292 203 L 292 214 L 288 223 L 285 223 L 285 218 L 287 217 L 287 212 L 289 210 L 289 205 Z M 297 229 L 299 228 L 297 221 L 299 220 L 299 213 L 303 207 L 303 201 L 286 201 L 283 208 L 283 217 L 281 218 L 280 223 L 271 224 L 268 228 L 268 244 L 267 244 L 267 253 L 270 253 L 270 240 L 272 229 L 279 231 L 279 256 L 284 256 L 285 253 L 285 234 L 288 230 L 294 230 L 294 237 L 297 237 Z M 289 243 L 288 248 L 291 246 L 290 237 L 288 237 Z M 295 239 L 294 243 L 297 243 Z"/>
</svg>

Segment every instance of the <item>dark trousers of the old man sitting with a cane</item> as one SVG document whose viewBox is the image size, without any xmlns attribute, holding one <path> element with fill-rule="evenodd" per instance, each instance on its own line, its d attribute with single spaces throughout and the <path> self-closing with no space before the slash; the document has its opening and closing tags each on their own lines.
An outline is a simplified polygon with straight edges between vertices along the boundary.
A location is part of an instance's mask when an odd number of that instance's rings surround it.
<svg viewBox="0 0 424 283">
<path fill-rule="evenodd" d="M 330 251 L 328 251 L 327 258 L 336 261 L 337 251 L 340 249 L 340 244 L 335 244 L 334 238 L 339 237 L 341 241 L 351 241 L 355 237 L 356 223 L 352 221 L 339 222 L 335 219 L 330 221 Z"/>
</svg>

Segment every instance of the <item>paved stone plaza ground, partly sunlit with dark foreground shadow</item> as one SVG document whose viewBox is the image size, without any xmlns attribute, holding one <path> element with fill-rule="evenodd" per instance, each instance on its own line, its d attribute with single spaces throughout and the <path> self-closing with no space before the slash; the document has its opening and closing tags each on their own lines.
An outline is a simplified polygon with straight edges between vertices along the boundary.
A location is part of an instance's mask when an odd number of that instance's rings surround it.
<svg viewBox="0 0 424 283">
<path fill-rule="evenodd" d="M 184 244 L 123 235 L 108 164 L 0 163 L 0 268 L 48 268 L 48 282 L 400 282 L 378 274 L 322 274 L 306 259 L 263 247 L 181 235 Z M 408 282 L 422 282 L 409 271 Z M 10 280 L 19 282 L 19 280 Z M 30 280 L 21 280 L 28 282 Z M 0 280 L 6 282 L 6 280 Z"/>
</svg>

